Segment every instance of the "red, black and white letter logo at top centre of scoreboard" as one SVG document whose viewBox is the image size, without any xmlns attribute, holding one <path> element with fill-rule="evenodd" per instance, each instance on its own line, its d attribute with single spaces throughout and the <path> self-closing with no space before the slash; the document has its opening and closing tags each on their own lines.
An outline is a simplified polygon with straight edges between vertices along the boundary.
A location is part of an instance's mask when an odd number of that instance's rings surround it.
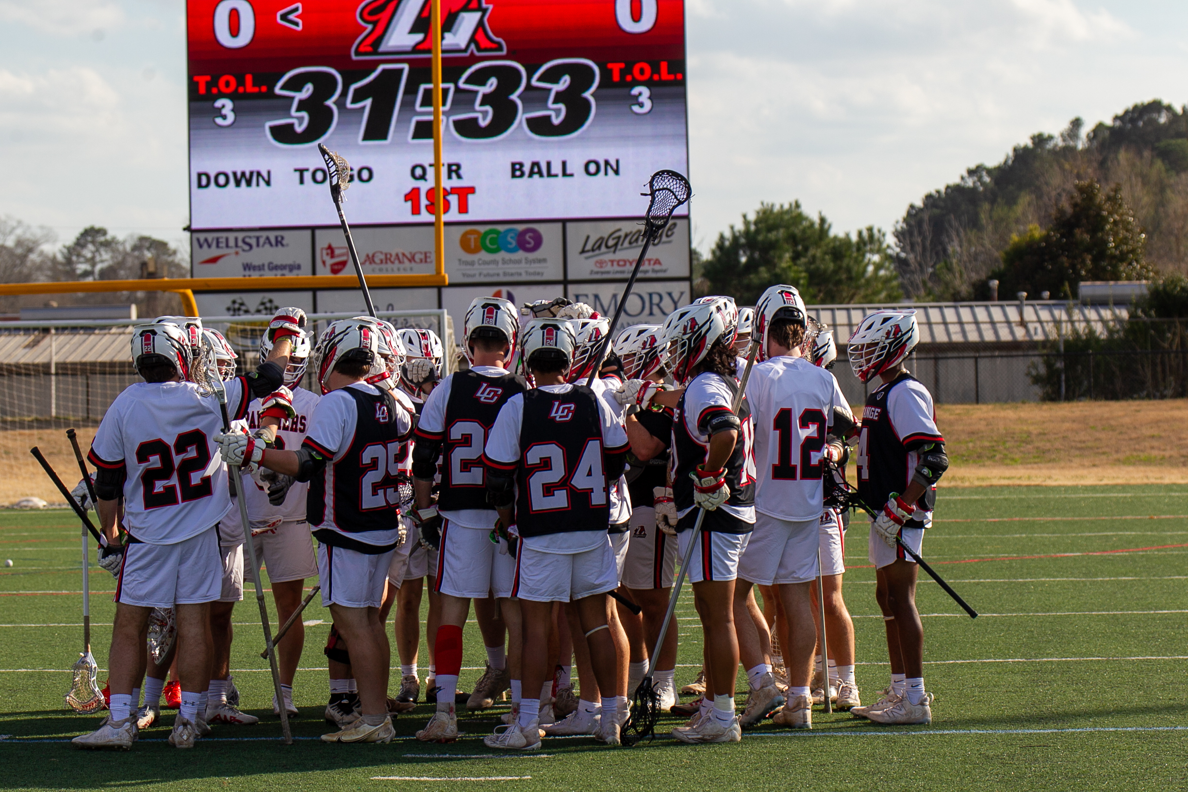
<svg viewBox="0 0 1188 792">
<path fill-rule="evenodd" d="M 355 58 L 432 53 L 429 40 L 431 0 L 366 0 L 355 17 L 367 32 L 355 42 Z M 487 0 L 442 0 L 444 55 L 501 55 L 507 51 L 487 25 Z"/>
</svg>

